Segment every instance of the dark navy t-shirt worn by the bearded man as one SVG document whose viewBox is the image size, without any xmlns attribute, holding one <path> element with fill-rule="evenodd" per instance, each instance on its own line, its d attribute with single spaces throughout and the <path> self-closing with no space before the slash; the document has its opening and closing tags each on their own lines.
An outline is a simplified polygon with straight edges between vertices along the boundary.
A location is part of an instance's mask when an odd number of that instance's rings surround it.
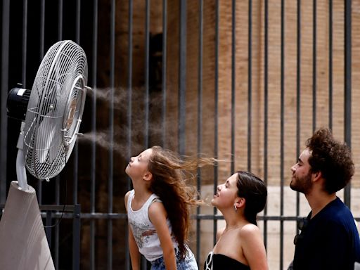
<svg viewBox="0 0 360 270">
<path fill-rule="evenodd" d="M 311 212 L 297 236 L 294 269 L 354 269 L 354 262 L 360 262 L 360 238 L 347 206 L 336 198 L 310 217 Z"/>
</svg>

